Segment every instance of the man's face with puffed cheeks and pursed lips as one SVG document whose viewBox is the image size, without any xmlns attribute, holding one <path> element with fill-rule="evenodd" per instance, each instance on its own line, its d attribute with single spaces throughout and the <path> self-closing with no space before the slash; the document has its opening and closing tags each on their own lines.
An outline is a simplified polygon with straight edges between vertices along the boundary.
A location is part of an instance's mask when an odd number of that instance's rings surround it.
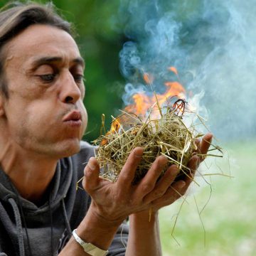
<svg viewBox="0 0 256 256">
<path fill-rule="evenodd" d="M 53 26 L 33 25 L 4 50 L 9 142 L 53 158 L 76 153 L 87 112 L 82 103 L 84 63 L 73 38 Z"/>
</svg>

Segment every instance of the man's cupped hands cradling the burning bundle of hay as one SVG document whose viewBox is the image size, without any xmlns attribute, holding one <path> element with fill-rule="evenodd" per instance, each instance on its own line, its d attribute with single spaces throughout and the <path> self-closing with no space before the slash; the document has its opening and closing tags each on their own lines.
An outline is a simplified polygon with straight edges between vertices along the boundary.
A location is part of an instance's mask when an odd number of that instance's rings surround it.
<svg viewBox="0 0 256 256">
<path fill-rule="evenodd" d="M 198 143 L 198 151 L 201 154 L 207 153 L 211 139 L 212 135 L 206 134 L 202 142 Z M 148 209 L 156 211 L 173 203 L 186 192 L 198 165 L 203 161 L 201 157 L 193 156 L 188 164 L 191 175 L 181 181 L 174 182 L 178 174 L 175 165 L 170 166 L 158 181 L 161 171 L 167 164 L 166 157 L 159 156 L 142 181 L 134 186 L 132 181 L 142 154 L 142 148 L 135 148 L 132 151 L 115 183 L 101 178 L 97 159 L 90 159 L 85 167 L 82 186 L 92 197 L 90 210 L 97 218 L 110 225 L 119 225 L 132 213 Z"/>
</svg>

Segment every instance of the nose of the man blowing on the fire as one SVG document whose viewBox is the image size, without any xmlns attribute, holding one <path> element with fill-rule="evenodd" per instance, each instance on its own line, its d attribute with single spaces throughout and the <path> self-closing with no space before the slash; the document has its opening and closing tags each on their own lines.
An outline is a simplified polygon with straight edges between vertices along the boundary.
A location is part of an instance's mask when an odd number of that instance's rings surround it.
<svg viewBox="0 0 256 256">
<path fill-rule="evenodd" d="M 60 100 L 62 102 L 74 104 L 80 99 L 80 88 L 70 72 L 67 72 L 64 75 L 60 87 Z"/>
</svg>

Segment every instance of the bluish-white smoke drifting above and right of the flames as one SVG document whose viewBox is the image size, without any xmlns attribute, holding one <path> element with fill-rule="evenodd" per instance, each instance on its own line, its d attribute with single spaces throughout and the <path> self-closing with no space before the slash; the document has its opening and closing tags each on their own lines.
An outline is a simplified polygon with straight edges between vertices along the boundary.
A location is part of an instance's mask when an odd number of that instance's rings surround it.
<svg viewBox="0 0 256 256">
<path fill-rule="evenodd" d="M 134 92 L 151 92 L 143 72 L 164 92 L 164 81 L 177 80 L 167 70 L 175 66 L 181 84 L 208 110 L 216 137 L 255 136 L 255 16 L 253 0 L 123 0 L 119 20 L 129 38 L 120 52 L 124 103 L 132 103 Z"/>
</svg>

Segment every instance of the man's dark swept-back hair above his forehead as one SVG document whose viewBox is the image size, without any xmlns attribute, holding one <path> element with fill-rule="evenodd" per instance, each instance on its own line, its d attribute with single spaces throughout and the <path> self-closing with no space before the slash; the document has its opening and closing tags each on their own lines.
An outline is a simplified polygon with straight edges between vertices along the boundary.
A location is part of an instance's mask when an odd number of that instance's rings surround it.
<svg viewBox="0 0 256 256">
<path fill-rule="evenodd" d="M 61 18 L 53 4 L 46 5 L 13 2 L 0 9 L 0 93 L 9 97 L 8 86 L 4 77 L 4 61 L 6 56 L 3 47 L 21 31 L 33 24 L 55 26 L 73 36 L 71 24 Z"/>
</svg>

